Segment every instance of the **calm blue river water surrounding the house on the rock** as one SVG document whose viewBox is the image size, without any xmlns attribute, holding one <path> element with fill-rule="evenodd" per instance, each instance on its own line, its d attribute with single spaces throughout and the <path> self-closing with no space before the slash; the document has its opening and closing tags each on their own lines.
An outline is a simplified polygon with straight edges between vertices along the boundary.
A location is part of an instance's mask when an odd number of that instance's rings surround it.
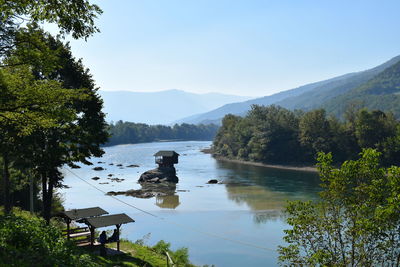
<svg viewBox="0 0 400 267">
<path fill-rule="evenodd" d="M 288 229 L 282 210 L 288 200 L 317 199 L 318 176 L 217 161 L 200 152 L 210 145 L 192 141 L 106 147 L 102 158 L 91 159 L 93 166 L 63 169 L 64 183 L 70 187 L 61 191 L 64 205 L 66 209 L 99 206 L 110 214 L 126 213 L 135 223 L 122 226 L 122 238 L 136 241 L 145 237 L 148 245 L 163 239 L 173 249 L 188 247 L 194 264 L 276 266 L 276 249 L 283 244 L 283 230 Z M 173 195 L 150 199 L 117 196 L 124 204 L 102 192 L 140 189 L 137 180 L 141 173 L 156 167 L 153 154 L 158 150 L 180 154 L 175 165 L 179 183 Z M 130 164 L 139 167 L 127 168 Z M 105 170 L 94 171 L 94 166 Z M 124 180 L 112 181 L 109 174 Z M 100 179 L 92 180 L 95 176 Z M 222 184 L 209 185 L 210 179 Z"/>
</svg>

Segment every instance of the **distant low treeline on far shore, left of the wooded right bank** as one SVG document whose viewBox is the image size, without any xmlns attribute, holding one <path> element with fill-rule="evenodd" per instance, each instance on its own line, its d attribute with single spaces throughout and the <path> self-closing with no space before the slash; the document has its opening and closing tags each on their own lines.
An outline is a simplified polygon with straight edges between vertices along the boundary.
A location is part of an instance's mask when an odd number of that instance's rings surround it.
<svg viewBox="0 0 400 267">
<path fill-rule="evenodd" d="M 145 143 L 162 140 L 213 140 L 219 126 L 215 124 L 175 124 L 174 126 L 147 125 L 118 121 L 109 126 L 111 135 L 107 146 Z"/>
</svg>

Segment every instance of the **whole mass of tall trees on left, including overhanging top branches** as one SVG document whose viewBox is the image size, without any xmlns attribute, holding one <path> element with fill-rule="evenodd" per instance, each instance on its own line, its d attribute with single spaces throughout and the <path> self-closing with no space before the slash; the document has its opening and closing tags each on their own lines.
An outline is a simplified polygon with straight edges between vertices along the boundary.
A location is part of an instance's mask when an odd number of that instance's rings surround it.
<svg viewBox="0 0 400 267">
<path fill-rule="evenodd" d="M 43 215 L 50 218 L 58 169 L 101 156 L 108 137 L 102 101 L 89 70 L 75 59 L 66 34 L 87 38 L 101 9 L 87 0 L 0 0 L 0 146 L 5 211 L 10 211 L 10 168 L 40 177 Z M 59 35 L 41 23 L 54 23 Z M 16 162 L 19 161 L 19 164 Z M 28 167 L 27 167 L 28 166 Z"/>
</svg>

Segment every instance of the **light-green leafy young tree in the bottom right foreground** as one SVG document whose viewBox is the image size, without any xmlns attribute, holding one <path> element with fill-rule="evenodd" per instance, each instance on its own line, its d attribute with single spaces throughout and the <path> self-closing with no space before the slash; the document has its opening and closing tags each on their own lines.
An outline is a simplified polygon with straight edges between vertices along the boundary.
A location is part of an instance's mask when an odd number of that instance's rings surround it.
<svg viewBox="0 0 400 267">
<path fill-rule="evenodd" d="M 279 247 L 283 264 L 299 266 L 398 266 L 400 264 L 400 167 L 379 167 L 380 153 L 332 166 L 319 153 L 319 202 L 291 202 Z"/>
</svg>

